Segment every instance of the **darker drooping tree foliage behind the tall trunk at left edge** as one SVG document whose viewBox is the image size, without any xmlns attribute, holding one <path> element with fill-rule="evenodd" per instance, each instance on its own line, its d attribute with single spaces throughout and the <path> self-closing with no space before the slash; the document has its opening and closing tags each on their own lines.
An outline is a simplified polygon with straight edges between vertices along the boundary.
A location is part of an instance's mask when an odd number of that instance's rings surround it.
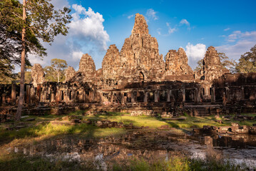
<svg viewBox="0 0 256 171">
<path fill-rule="evenodd" d="M 14 78 L 16 75 L 10 71 L 14 70 L 15 64 L 21 64 L 22 14 L 22 5 L 19 1 L 0 1 L 0 71 L 5 78 Z M 46 49 L 29 29 L 26 29 L 25 43 L 26 54 L 34 52 L 36 56 L 46 55 Z M 25 61 L 26 66 L 31 65 L 27 55 Z"/>
</svg>

